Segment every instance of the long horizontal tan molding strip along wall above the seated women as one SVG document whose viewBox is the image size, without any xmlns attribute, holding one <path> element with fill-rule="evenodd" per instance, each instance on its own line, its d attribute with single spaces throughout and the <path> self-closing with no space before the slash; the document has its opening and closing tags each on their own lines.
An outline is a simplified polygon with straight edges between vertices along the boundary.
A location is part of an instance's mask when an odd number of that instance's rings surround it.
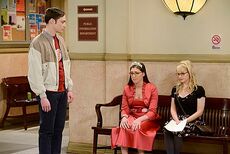
<svg viewBox="0 0 230 154">
<path fill-rule="evenodd" d="M 178 62 L 189 59 L 201 63 L 230 63 L 230 54 L 120 54 L 70 53 L 72 60 Z"/>
</svg>

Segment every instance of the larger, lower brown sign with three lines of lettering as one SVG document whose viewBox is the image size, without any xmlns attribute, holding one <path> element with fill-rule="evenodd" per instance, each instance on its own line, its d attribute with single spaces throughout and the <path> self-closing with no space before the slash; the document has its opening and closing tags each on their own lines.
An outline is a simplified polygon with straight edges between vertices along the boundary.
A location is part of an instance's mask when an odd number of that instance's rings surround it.
<svg viewBox="0 0 230 154">
<path fill-rule="evenodd" d="M 98 17 L 78 17 L 78 41 L 98 41 Z"/>
</svg>

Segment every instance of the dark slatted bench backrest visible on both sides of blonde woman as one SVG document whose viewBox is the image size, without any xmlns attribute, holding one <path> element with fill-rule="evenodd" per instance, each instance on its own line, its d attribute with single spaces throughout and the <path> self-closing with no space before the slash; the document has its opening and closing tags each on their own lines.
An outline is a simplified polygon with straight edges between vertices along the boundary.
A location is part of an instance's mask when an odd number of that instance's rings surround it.
<svg viewBox="0 0 230 154">
<path fill-rule="evenodd" d="M 157 112 L 162 118 L 162 126 L 170 118 L 170 104 L 170 96 L 159 95 Z M 230 129 L 230 99 L 207 97 L 203 118 L 215 130 L 216 134 L 226 135 Z"/>
</svg>

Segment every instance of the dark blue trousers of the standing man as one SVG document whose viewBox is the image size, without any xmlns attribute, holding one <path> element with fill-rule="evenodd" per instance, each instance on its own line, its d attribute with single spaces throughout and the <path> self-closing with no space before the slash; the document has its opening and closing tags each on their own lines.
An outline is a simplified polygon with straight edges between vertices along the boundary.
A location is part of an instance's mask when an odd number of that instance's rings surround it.
<svg viewBox="0 0 230 154">
<path fill-rule="evenodd" d="M 39 154 L 60 154 L 65 126 L 67 92 L 46 92 L 51 111 L 40 112 Z"/>
</svg>

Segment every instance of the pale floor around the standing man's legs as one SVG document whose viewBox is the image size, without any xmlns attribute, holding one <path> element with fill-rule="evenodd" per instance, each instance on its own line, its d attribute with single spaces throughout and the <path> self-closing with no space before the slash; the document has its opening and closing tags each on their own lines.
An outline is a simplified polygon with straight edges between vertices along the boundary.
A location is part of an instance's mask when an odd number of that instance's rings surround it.
<svg viewBox="0 0 230 154">
<path fill-rule="evenodd" d="M 67 153 L 69 142 L 68 121 L 63 132 L 62 154 Z M 0 131 L 0 154 L 38 154 L 38 126 Z"/>
</svg>

